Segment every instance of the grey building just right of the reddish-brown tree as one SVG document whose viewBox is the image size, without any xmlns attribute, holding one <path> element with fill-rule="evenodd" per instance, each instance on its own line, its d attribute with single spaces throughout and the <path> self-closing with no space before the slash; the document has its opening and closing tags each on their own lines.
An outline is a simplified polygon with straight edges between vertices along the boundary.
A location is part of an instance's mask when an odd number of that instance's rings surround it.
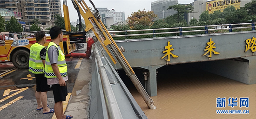
<svg viewBox="0 0 256 119">
<path fill-rule="evenodd" d="M 167 8 L 177 3 L 178 0 L 157 0 L 151 2 L 151 10 L 157 15 L 158 19 L 164 19 L 176 13 L 175 10 L 167 10 Z"/>
</svg>

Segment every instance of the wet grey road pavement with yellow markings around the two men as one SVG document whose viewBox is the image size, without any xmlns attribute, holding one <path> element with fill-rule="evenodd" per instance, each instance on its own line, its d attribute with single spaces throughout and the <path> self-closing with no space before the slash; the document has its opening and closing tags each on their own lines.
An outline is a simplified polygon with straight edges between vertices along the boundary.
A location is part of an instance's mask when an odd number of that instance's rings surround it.
<svg viewBox="0 0 256 119">
<path fill-rule="evenodd" d="M 76 53 L 84 53 L 85 48 Z M 72 93 L 80 71 L 79 58 L 66 58 L 68 68 L 67 91 Z M 52 119 L 54 113 L 36 111 L 36 80 L 28 69 L 17 69 L 12 62 L 0 63 L 0 119 Z M 47 104 L 54 108 L 53 92 L 47 92 Z"/>
</svg>

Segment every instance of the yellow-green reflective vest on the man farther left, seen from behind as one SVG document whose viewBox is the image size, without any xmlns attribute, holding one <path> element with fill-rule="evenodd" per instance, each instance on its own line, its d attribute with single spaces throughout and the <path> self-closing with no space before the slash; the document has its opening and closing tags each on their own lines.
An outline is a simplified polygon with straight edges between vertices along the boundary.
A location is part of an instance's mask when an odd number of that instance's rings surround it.
<svg viewBox="0 0 256 119">
<path fill-rule="evenodd" d="M 34 74 L 44 73 L 44 64 L 40 57 L 40 51 L 45 46 L 35 43 L 30 47 L 28 71 Z"/>
</svg>

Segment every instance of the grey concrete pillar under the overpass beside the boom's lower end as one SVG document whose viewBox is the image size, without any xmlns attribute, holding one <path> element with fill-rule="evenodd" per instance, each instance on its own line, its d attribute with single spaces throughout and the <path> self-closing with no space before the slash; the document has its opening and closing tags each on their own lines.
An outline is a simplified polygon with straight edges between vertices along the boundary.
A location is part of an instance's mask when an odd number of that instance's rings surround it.
<svg viewBox="0 0 256 119">
<path fill-rule="evenodd" d="M 156 69 L 158 69 L 162 66 L 164 66 L 164 65 L 148 66 L 149 74 L 148 74 L 148 80 L 145 81 L 145 90 L 147 91 L 149 96 L 157 95 Z"/>
</svg>

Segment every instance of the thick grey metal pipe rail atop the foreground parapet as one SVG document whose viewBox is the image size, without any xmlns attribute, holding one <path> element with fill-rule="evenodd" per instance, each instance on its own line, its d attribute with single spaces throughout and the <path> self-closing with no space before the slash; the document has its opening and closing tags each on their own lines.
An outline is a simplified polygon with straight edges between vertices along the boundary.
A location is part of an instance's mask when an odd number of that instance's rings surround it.
<svg viewBox="0 0 256 119">
<path fill-rule="evenodd" d="M 95 57 L 99 67 L 102 88 L 104 90 L 103 93 L 105 97 L 106 106 L 108 109 L 108 116 L 110 119 L 123 119 L 117 101 L 115 99 L 115 94 L 112 90 L 112 87 L 110 86 L 108 75 L 101 61 L 101 56 L 97 49 L 94 49 L 94 53 L 96 55 Z"/>
</svg>

